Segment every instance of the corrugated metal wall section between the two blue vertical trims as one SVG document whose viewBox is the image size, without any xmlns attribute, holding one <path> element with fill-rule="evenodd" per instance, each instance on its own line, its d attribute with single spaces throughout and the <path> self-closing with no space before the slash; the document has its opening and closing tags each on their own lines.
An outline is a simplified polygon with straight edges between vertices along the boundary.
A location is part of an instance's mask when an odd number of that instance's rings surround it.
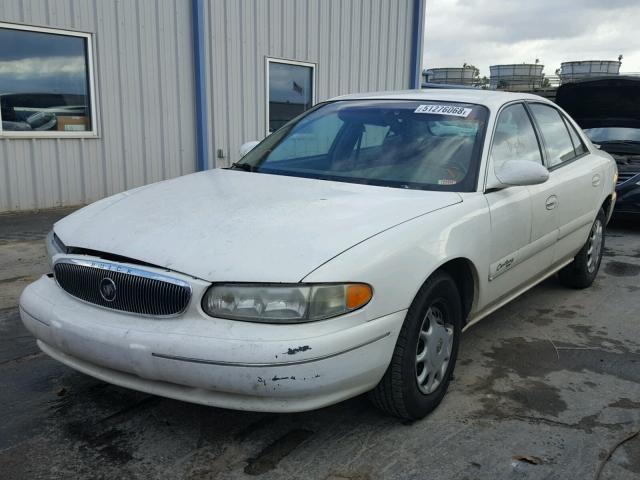
<svg viewBox="0 0 640 480">
<path fill-rule="evenodd" d="M 316 100 L 410 85 L 413 0 L 215 0 L 205 8 L 209 166 L 266 132 L 265 58 L 316 64 Z M 216 158 L 221 149 L 224 158 Z"/>
</svg>

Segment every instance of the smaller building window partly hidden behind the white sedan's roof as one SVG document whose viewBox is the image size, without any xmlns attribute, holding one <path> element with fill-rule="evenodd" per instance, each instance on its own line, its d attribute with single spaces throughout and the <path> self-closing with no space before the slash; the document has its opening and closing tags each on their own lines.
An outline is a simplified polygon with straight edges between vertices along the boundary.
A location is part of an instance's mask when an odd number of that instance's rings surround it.
<svg viewBox="0 0 640 480">
<path fill-rule="evenodd" d="M 267 133 L 311 108 L 315 64 L 267 58 Z"/>
</svg>

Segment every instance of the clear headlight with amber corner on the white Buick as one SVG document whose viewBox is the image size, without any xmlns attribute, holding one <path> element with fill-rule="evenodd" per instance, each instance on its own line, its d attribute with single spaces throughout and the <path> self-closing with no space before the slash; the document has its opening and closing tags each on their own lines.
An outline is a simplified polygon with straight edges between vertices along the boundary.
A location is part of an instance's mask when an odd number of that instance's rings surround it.
<svg viewBox="0 0 640 480">
<path fill-rule="evenodd" d="M 313 322 L 352 312 L 371 300 L 364 283 L 212 285 L 202 309 L 218 318 L 265 323 Z"/>
</svg>

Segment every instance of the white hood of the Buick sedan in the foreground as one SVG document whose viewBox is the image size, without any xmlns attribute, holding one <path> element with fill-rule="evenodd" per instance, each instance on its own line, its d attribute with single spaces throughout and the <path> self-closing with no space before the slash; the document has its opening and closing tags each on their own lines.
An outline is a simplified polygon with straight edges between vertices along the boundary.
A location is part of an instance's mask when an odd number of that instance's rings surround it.
<svg viewBox="0 0 640 480">
<path fill-rule="evenodd" d="M 372 235 L 461 201 L 453 192 L 215 169 L 101 200 L 55 232 L 68 247 L 212 282 L 297 282 Z"/>
</svg>

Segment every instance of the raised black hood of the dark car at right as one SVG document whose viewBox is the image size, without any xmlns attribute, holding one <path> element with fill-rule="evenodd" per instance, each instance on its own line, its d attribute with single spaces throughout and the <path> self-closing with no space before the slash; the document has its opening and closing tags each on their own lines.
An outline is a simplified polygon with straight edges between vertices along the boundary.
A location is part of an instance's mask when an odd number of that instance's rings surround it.
<svg viewBox="0 0 640 480">
<path fill-rule="evenodd" d="M 640 78 L 565 83 L 558 87 L 556 103 L 582 128 L 640 128 Z"/>
</svg>

